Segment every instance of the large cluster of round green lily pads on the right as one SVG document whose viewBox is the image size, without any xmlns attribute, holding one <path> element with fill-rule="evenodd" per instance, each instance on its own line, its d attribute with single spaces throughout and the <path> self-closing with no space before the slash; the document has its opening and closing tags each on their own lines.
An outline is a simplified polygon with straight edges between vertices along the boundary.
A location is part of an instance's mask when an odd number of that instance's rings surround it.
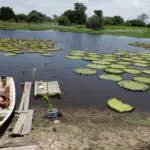
<svg viewBox="0 0 150 150">
<path fill-rule="evenodd" d="M 117 81 L 120 87 L 131 91 L 146 91 L 150 85 L 150 53 L 127 52 L 117 50 L 114 53 L 95 53 L 71 51 L 67 59 L 82 59 L 90 61 L 85 68 L 76 68 L 74 72 L 80 75 L 94 75 L 97 70 L 103 70 L 99 78 Z M 123 78 L 123 73 L 131 74 L 131 80 Z"/>
</svg>

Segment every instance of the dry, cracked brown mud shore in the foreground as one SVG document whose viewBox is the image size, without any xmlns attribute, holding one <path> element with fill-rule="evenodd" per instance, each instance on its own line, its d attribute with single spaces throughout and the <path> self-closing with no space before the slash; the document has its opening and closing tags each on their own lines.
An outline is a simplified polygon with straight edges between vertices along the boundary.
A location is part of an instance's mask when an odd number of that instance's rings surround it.
<svg viewBox="0 0 150 150">
<path fill-rule="evenodd" d="M 0 138 L 0 146 L 37 143 L 42 150 L 150 150 L 150 113 L 92 108 L 61 111 L 60 123 L 54 124 L 44 110 L 36 108 L 31 134 L 10 137 L 12 123 Z"/>
</svg>

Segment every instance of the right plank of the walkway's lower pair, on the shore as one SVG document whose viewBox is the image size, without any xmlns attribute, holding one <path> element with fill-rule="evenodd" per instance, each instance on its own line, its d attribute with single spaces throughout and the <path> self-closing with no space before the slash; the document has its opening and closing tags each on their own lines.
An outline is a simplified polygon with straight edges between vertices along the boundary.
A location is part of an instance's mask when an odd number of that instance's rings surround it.
<svg viewBox="0 0 150 150">
<path fill-rule="evenodd" d="M 31 132 L 32 118 L 33 118 L 33 110 L 29 110 L 27 113 L 25 123 L 24 123 L 23 128 L 22 128 L 22 131 L 21 131 L 21 135 L 26 135 L 26 134 L 29 134 Z"/>
</svg>

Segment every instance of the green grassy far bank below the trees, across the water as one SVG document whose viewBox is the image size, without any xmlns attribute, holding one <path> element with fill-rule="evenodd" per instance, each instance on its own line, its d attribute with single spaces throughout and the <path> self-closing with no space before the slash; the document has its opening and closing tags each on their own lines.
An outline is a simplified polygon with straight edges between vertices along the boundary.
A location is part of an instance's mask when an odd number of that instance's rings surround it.
<svg viewBox="0 0 150 150">
<path fill-rule="evenodd" d="M 104 30 L 91 30 L 87 29 L 84 25 L 59 26 L 55 23 L 27 24 L 0 22 L 0 30 L 56 30 L 60 32 L 80 32 L 150 38 L 150 28 L 147 27 L 105 26 Z"/>
</svg>

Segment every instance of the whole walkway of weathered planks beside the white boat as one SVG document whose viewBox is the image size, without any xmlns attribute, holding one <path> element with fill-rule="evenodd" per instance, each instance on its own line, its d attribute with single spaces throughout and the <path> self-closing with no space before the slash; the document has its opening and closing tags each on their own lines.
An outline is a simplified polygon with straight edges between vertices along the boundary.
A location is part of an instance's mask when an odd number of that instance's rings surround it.
<svg viewBox="0 0 150 150">
<path fill-rule="evenodd" d="M 29 110 L 31 82 L 25 82 L 22 99 L 17 113 L 18 120 L 13 128 L 12 136 L 26 135 L 31 132 L 33 110 Z"/>
</svg>

